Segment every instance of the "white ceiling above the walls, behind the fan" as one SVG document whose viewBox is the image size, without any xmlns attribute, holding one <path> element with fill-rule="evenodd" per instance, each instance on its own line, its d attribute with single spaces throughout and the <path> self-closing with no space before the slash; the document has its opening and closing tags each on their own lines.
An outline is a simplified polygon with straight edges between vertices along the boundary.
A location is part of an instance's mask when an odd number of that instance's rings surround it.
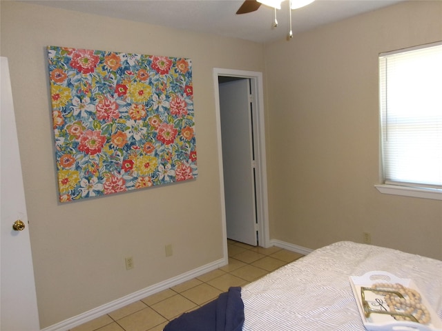
<svg viewBox="0 0 442 331">
<path fill-rule="evenodd" d="M 391 6 L 404 0 L 316 0 L 292 10 L 293 33 Z M 28 0 L 45 6 L 169 26 L 182 30 L 220 34 L 265 43 L 287 38 L 288 1 L 277 10 L 278 28 L 272 28 L 273 9 L 236 14 L 242 0 Z"/>
</svg>

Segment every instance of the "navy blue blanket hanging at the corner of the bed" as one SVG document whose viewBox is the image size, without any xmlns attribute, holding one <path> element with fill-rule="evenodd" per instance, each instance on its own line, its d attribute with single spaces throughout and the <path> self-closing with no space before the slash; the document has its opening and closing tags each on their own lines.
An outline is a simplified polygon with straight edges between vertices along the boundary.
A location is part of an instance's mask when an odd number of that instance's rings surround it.
<svg viewBox="0 0 442 331">
<path fill-rule="evenodd" d="M 218 299 L 169 322 L 163 331 L 241 331 L 244 303 L 241 288 L 229 288 Z"/>
</svg>

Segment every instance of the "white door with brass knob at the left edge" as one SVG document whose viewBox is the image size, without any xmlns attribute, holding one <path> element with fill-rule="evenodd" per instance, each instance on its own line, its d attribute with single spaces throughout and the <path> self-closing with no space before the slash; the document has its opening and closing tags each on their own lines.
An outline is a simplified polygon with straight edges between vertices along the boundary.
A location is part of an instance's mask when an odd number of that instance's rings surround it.
<svg viewBox="0 0 442 331">
<path fill-rule="evenodd" d="M 40 330 L 35 293 L 34 270 L 30 250 L 28 215 L 26 213 L 23 179 L 14 106 L 10 87 L 8 59 L 1 57 L 1 309 L 0 330 Z M 12 228 L 23 222 L 22 230 Z"/>
</svg>

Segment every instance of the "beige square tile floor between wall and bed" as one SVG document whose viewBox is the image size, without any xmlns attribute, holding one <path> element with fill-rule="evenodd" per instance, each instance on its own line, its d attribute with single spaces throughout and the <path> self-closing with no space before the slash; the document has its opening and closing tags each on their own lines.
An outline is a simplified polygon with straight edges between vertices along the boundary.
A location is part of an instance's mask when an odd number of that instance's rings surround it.
<svg viewBox="0 0 442 331">
<path fill-rule="evenodd" d="M 173 286 L 70 331 L 162 331 L 183 312 L 216 299 L 231 286 L 243 286 L 299 259 L 302 254 L 228 240 L 229 264 Z"/>
</svg>

